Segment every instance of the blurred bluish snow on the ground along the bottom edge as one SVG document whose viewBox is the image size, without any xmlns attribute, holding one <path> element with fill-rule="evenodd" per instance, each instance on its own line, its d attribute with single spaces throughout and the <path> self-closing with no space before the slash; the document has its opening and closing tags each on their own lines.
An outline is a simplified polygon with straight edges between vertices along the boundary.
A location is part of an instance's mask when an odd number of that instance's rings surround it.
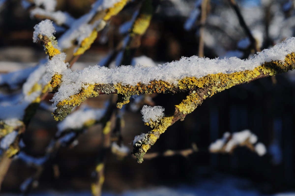
<svg viewBox="0 0 295 196">
<path fill-rule="evenodd" d="M 30 179 L 30 178 L 29 178 Z M 32 196 L 91 196 L 90 191 L 65 191 L 53 190 L 44 192 L 32 192 Z M 178 184 L 173 186 L 150 186 L 136 190 L 124 190 L 116 194 L 103 192 L 102 196 L 294 196 L 295 192 L 281 192 L 275 194 L 263 194 L 257 183 L 248 179 L 238 178 L 225 174 L 214 174 L 213 177 L 203 177 L 200 180 L 193 179 L 190 185 Z M 11 195 L 14 196 L 14 195 Z"/>
</svg>

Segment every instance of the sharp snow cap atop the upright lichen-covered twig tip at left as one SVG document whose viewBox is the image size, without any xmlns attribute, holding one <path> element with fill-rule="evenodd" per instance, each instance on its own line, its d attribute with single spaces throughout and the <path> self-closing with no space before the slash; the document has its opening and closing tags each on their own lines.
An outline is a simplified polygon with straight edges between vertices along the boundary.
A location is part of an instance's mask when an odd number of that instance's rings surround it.
<svg viewBox="0 0 295 196">
<path fill-rule="evenodd" d="M 33 42 L 38 41 L 38 35 L 46 35 L 47 37 L 53 37 L 53 33 L 55 33 L 55 28 L 53 27 L 53 23 L 51 20 L 42 20 L 34 27 L 35 31 L 33 33 Z"/>
</svg>

